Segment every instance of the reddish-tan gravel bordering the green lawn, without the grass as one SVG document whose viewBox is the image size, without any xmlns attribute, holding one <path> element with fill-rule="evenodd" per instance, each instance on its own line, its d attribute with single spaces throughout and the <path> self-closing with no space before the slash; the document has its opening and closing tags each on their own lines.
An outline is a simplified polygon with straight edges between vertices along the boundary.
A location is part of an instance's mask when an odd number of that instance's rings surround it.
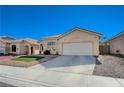
<svg viewBox="0 0 124 93">
<path fill-rule="evenodd" d="M 13 58 L 10 60 L 2 60 L 0 61 L 0 65 L 8 65 L 8 66 L 15 66 L 15 67 L 30 67 L 33 65 L 40 64 L 42 62 L 46 62 L 48 60 L 52 60 L 53 58 L 57 57 L 57 55 L 37 55 L 37 57 L 43 57 L 42 59 L 38 61 L 32 61 L 32 62 L 23 62 L 23 61 L 15 61 Z"/>
</svg>

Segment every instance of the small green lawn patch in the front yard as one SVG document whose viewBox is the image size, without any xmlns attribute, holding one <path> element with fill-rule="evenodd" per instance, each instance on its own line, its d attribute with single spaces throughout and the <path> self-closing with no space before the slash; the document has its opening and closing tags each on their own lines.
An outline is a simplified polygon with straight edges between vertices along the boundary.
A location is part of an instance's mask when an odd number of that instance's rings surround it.
<svg viewBox="0 0 124 93">
<path fill-rule="evenodd" d="M 21 56 L 21 57 L 14 58 L 12 60 L 23 61 L 23 62 L 33 62 L 33 61 L 38 61 L 42 58 L 43 57 L 37 57 L 37 56 Z"/>
</svg>

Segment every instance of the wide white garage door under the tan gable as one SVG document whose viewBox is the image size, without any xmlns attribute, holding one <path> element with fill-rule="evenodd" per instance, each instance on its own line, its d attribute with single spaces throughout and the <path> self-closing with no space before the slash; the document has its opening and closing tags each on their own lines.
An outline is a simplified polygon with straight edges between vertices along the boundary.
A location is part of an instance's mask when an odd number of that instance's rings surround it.
<svg viewBox="0 0 124 93">
<path fill-rule="evenodd" d="M 63 55 L 93 55 L 92 43 L 67 43 L 63 44 Z"/>
</svg>

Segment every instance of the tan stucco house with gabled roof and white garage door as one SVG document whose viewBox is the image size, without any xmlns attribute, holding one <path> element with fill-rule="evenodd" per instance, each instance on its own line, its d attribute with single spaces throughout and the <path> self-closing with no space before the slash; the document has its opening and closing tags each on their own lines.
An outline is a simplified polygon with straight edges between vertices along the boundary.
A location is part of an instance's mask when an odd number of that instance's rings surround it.
<svg viewBox="0 0 124 93">
<path fill-rule="evenodd" d="M 50 50 L 60 55 L 99 55 L 101 34 L 74 28 L 65 34 L 43 38 L 39 41 L 41 51 Z"/>
</svg>

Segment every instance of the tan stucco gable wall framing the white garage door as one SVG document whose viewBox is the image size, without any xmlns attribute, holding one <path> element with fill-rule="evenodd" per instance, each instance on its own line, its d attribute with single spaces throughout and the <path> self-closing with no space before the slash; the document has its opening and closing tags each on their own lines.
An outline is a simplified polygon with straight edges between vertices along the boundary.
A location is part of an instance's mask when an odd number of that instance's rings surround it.
<svg viewBox="0 0 124 93">
<path fill-rule="evenodd" d="M 72 33 L 58 40 L 59 54 L 62 54 L 63 43 L 73 43 L 73 42 L 92 42 L 93 55 L 96 56 L 99 55 L 99 36 L 78 30 L 73 31 Z"/>
</svg>

